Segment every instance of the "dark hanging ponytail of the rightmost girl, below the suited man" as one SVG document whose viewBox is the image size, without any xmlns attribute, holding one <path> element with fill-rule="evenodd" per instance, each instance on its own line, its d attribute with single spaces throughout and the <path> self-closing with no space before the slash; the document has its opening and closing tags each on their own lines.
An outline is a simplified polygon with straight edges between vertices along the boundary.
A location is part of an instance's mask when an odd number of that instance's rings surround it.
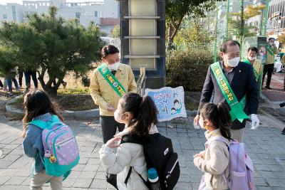
<svg viewBox="0 0 285 190">
<path fill-rule="evenodd" d="M 232 117 L 229 115 L 229 107 L 224 102 L 219 102 L 217 110 L 219 112 L 219 130 L 224 138 L 231 139 Z"/>
</svg>

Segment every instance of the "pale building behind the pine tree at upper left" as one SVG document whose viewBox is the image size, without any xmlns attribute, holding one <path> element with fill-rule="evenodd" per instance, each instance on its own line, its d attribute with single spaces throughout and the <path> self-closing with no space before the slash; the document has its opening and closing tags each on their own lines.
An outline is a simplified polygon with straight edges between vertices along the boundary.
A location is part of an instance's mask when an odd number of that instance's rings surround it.
<svg viewBox="0 0 285 190">
<path fill-rule="evenodd" d="M 66 0 L 23 1 L 21 4 L 0 6 L 0 21 L 23 22 L 28 14 L 47 14 L 50 6 L 58 8 L 63 19 L 78 19 L 88 27 L 90 21 L 97 25 L 116 25 L 119 20 L 118 1 L 98 0 L 86 2 L 68 2 Z"/>
</svg>

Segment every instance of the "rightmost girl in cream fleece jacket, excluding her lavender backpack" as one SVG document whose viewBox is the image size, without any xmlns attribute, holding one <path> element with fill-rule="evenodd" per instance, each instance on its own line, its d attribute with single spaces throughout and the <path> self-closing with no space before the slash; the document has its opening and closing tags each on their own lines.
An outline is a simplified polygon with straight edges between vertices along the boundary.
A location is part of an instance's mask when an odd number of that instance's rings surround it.
<svg viewBox="0 0 285 190">
<path fill-rule="evenodd" d="M 229 179 L 229 150 L 227 144 L 213 141 L 213 137 L 221 136 L 231 139 L 229 130 L 232 119 L 229 108 L 223 102 L 218 105 L 208 103 L 202 107 L 199 125 L 207 130 L 204 134 L 207 139 L 206 149 L 195 155 L 195 166 L 204 171 L 199 190 L 225 190 Z M 226 179 L 227 178 L 227 179 Z"/>
</svg>

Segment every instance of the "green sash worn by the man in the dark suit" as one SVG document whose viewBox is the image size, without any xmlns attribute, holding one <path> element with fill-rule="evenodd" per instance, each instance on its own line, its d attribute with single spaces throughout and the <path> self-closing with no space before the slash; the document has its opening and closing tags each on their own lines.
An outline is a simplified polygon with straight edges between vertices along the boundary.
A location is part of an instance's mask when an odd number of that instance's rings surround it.
<svg viewBox="0 0 285 190">
<path fill-rule="evenodd" d="M 224 76 L 222 72 L 222 68 L 219 65 L 219 62 L 213 63 L 211 65 L 211 69 L 214 73 L 214 78 L 216 78 L 219 88 L 224 95 L 224 98 L 227 100 L 229 107 L 231 108 L 229 114 L 232 117 L 232 121 L 239 120 L 239 122 L 243 122 L 244 119 L 248 119 L 249 117 L 244 112 L 245 107 L 245 96 L 239 102 L 237 100 L 236 95 L 232 91 L 231 86 L 227 82 L 227 78 Z"/>
</svg>

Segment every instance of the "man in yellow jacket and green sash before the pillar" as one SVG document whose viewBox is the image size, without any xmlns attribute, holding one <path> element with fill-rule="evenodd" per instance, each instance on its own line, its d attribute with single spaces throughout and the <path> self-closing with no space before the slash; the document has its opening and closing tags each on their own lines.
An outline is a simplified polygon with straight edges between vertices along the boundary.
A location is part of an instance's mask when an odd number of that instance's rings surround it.
<svg viewBox="0 0 285 190">
<path fill-rule="evenodd" d="M 115 46 L 104 46 L 101 51 L 103 63 L 94 70 L 90 78 L 90 94 L 100 109 L 100 124 L 104 144 L 115 132 L 123 131 L 125 125 L 114 119 L 115 107 L 125 93 L 137 93 L 135 77 L 129 65 L 120 63 L 119 50 Z"/>
</svg>

